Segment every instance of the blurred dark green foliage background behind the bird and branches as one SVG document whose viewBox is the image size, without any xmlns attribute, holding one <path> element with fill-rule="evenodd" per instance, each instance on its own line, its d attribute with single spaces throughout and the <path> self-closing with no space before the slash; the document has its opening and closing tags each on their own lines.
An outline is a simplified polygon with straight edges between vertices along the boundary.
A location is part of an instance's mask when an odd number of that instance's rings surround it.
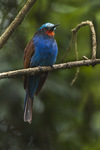
<svg viewBox="0 0 100 150">
<path fill-rule="evenodd" d="M 26 0 L 0 0 L 0 35 Z M 0 51 L 0 72 L 23 68 L 23 52 L 36 30 L 45 22 L 60 23 L 55 38 L 57 63 L 66 53 L 71 29 L 91 20 L 97 34 L 100 57 L 100 0 L 38 0 L 23 23 Z M 79 59 L 91 58 L 91 32 L 78 32 Z M 64 62 L 74 61 L 74 48 Z M 24 123 L 23 78 L 0 80 L 0 150 L 100 150 L 100 65 L 52 72 L 35 97 L 32 124 Z"/>
</svg>

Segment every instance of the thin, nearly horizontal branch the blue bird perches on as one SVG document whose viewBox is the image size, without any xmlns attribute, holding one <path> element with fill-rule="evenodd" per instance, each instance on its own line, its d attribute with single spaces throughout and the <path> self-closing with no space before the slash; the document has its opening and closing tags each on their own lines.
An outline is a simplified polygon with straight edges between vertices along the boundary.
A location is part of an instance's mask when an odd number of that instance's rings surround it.
<svg viewBox="0 0 100 150">
<path fill-rule="evenodd" d="M 20 69 L 20 70 L 15 70 L 15 71 L 8 71 L 8 72 L 3 72 L 0 73 L 0 79 L 3 78 L 12 78 L 16 76 L 22 76 L 25 74 L 30 74 L 30 75 L 36 75 L 39 73 L 44 73 L 44 72 L 51 72 L 54 70 L 59 70 L 59 69 L 70 69 L 73 67 L 80 67 L 80 66 L 91 66 L 91 65 L 96 65 L 100 64 L 100 59 L 88 59 L 88 60 L 80 60 L 80 61 L 73 61 L 73 62 L 67 62 L 67 63 L 62 63 L 62 64 L 56 64 L 53 67 L 47 66 L 47 67 L 34 67 L 34 68 L 28 68 L 28 69 Z"/>
</svg>

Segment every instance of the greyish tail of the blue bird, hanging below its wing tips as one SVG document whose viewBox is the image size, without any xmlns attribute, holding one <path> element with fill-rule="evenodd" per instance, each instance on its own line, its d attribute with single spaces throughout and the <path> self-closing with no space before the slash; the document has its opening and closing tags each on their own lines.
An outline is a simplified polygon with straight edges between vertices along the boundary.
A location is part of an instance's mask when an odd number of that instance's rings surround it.
<svg viewBox="0 0 100 150">
<path fill-rule="evenodd" d="M 33 99 L 29 96 L 28 91 L 25 97 L 24 105 L 24 121 L 31 123 L 32 121 Z"/>
</svg>

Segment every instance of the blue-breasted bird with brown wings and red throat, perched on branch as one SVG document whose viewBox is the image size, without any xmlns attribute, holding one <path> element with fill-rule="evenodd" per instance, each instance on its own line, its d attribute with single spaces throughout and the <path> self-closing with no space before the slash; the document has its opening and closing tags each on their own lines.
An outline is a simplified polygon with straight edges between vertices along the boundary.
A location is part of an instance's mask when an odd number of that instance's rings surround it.
<svg viewBox="0 0 100 150">
<path fill-rule="evenodd" d="M 45 23 L 30 40 L 24 49 L 24 68 L 53 66 L 57 59 L 58 46 L 54 38 L 56 27 L 59 24 Z M 38 95 L 48 73 L 42 75 L 24 75 L 24 122 L 32 122 L 34 95 Z"/>
</svg>

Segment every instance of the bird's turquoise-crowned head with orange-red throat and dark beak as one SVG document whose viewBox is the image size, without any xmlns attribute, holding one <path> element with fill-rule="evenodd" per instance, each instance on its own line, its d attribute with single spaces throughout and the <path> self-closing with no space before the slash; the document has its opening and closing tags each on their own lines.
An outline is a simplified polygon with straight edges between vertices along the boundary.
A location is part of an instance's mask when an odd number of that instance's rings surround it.
<svg viewBox="0 0 100 150">
<path fill-rule="evenodd" d="M 49 36 L 54 36 L 54 31 L 56 29 L 56 26 L 58 26 L 59 24 L 52 24 L 52 23 L 45 23 L 43 24 L 40 28 L 39 28 L 39 32 L 47 34 Z"/>
</svg>

